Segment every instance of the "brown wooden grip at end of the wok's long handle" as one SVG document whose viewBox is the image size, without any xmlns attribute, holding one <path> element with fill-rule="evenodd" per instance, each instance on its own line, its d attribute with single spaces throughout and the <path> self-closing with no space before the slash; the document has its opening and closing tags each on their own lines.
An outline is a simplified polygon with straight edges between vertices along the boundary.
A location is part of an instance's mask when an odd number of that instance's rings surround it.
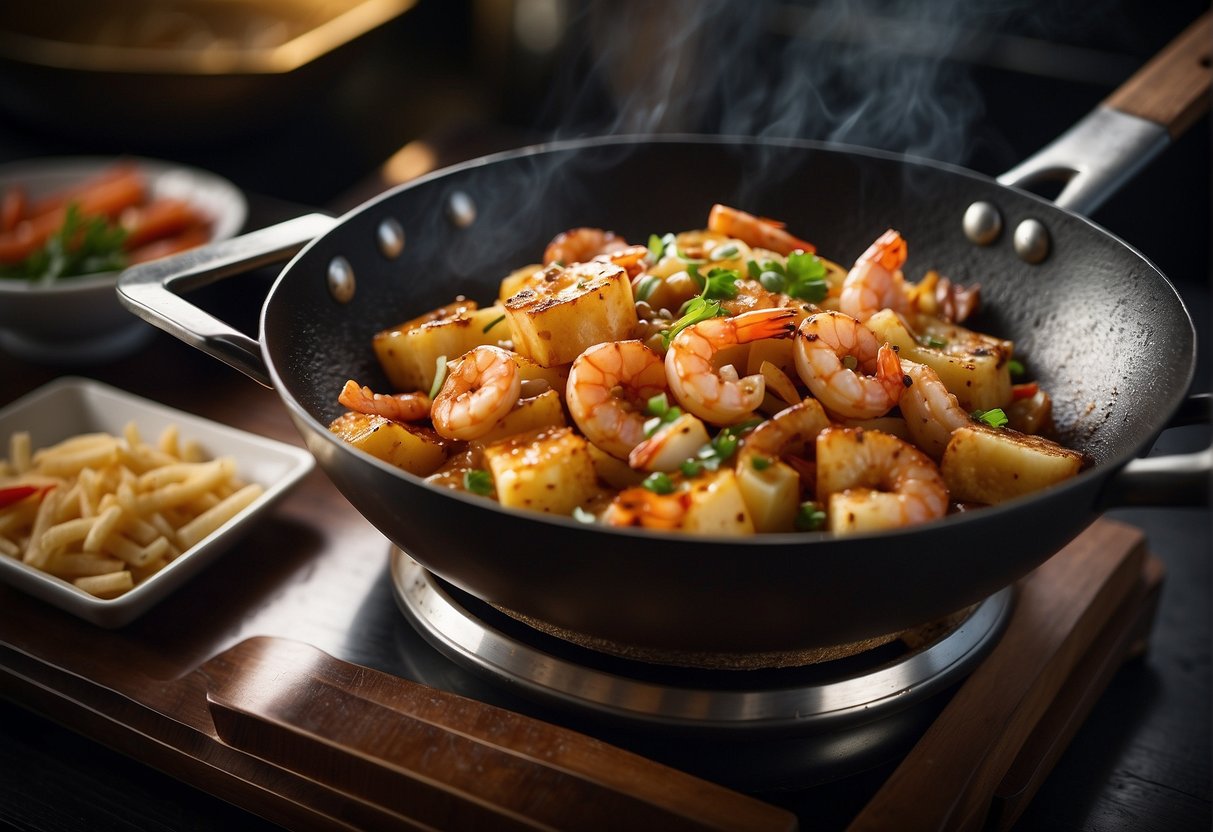
<svg viewBox="0 0 1213 832">
<path fill-rule="evenodd" d="M 1206 12 L 1139 69 L 1104 106 L 1167 129 L 1172 138 L 1209 108 L 1213 12 Z"/>
</svg>

